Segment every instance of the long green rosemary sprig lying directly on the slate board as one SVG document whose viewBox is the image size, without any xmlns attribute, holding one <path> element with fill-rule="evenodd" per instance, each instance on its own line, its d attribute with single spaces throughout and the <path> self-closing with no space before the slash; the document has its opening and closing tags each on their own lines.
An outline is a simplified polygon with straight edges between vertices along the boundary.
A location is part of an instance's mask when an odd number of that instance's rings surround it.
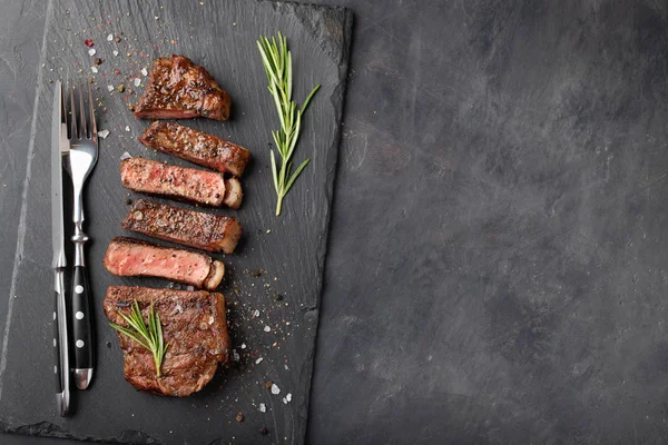
<svg viewBox="0 0 668 445">
<path fill-rule="evenodd" d="M 276 189 L 276 216 L 281 215 L 283 198 L 289 191 L 304 167 L 311 161 L 305 159 L 299 167 L 291 174 L 291 158 L 295 151 L 299 129 L 302 125 L 302 115 L 306 110 L 311 98 L 321 87 L 317 85 L 304 100 L 302 108 L 292 100 L 292 53 L 287 49 L 287 39 L 281 32 L 278 37 L 272 37 L 272 40 L 261 36 L 257 41 L 257 48 L 262 56 L 262 61 L 269 81 L 269 92 L 274 98 L 276 111 L 281 119 L 281 130 L 272 130 L 276 149 L 281 155 L 281 169 L 276 165 L 276 156 L 272 150 L 272 177 L 274 178 L 274 188 Z"/>
</svg>

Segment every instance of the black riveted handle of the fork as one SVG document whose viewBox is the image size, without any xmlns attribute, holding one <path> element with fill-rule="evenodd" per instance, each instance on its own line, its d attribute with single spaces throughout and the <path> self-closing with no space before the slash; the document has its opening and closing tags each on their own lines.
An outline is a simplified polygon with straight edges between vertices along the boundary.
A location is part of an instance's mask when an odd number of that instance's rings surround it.
<svg viewBox="0 0 668 445">
<path fill-rule="evenodd" d="M 86 266 L 76 265 L 72 275 L 72 334 L 75 345 L 75 383 L 86 389 L 92 378 L 95 345 L 90 287 Z"/>
</svg>

